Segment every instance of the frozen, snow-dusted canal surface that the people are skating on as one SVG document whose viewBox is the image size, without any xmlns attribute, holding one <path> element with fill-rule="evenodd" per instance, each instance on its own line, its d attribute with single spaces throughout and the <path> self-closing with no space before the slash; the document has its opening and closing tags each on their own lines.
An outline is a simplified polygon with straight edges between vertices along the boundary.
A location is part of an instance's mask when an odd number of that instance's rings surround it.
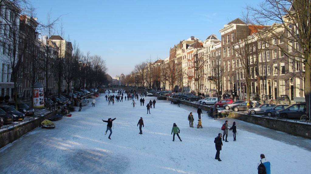
<svg viewBox="0 0 311 174">
<path fill-rule="evenodd" d="M 230 142 L 223 142 L 219 162 L 214 159 L 213 141 L 222 133 L 225 118 L 213 120 L 204 112 L 203 128 L 190 128 L 188 114 L 193 112 L 197 123 L 196 108 L 156 100 L 156 108 L 147 115 L 146 103 L 155 97 L 146 97 L 144 107 L 136 100 L 133 108 L 131 101 L 108 106 L 104 95 L 96 99 L 95 107 L 89 103 L 81 112 L 72 112 L 72 117 L 55 121 L 55 129 L 36 128 L 0 150 L 0 173 L 252 174 L 257 173 L 262 153 L 271 162 L 273 174 L 309 173 L 311 169 L 306 165 L 310 149 L 273 138 L 273 134 L 301 143 L 310 143 L 309 139 L 228 118 L 230 126 L 237 123 L 237 141 L 232 141 L 229 131 Z M 107 123 L 101 120 L 114 117 L 109 140 L 109 131 L 104 135 Z M 142 135 L 137 127 L 140 117 L 145 124 Z M 180 128 L 182 142 L 177 136 L 172 141 L 173 123 Z"/>
</svg>

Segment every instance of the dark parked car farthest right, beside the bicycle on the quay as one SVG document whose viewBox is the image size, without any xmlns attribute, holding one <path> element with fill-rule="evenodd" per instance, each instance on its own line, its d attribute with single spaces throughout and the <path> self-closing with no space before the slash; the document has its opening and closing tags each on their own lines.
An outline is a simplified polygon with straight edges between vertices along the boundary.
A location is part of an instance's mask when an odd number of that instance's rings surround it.
<svg viewBox="0 0 311 174">
<path fill-rule="evenodd" d="M 276 111 L 275 116 L 280 118 L 298 118 L 306 114 L 306 103 L 292 104 L 284 109 Z"/>
</svg>

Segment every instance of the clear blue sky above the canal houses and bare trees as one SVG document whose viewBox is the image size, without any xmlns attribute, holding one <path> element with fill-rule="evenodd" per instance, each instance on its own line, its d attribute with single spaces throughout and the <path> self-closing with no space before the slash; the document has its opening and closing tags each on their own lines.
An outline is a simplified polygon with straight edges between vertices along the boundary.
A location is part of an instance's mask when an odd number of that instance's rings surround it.
<svg viewBox="0 0 311 174">
<path fill-rule="evenodd" d="M 112 77 L 128 74 L 135 64 L 165 59 L 169 48 L 190 36 L 206 39 L 220 36 L 220 30 L 241 17 L 247 3 L 236 1 L 106 1 L 30 0 L 39 23 L 61 16 L 64 39 L 76 41 L 86 54 L 97 54 L 106 61 Z"/>
</svg>

